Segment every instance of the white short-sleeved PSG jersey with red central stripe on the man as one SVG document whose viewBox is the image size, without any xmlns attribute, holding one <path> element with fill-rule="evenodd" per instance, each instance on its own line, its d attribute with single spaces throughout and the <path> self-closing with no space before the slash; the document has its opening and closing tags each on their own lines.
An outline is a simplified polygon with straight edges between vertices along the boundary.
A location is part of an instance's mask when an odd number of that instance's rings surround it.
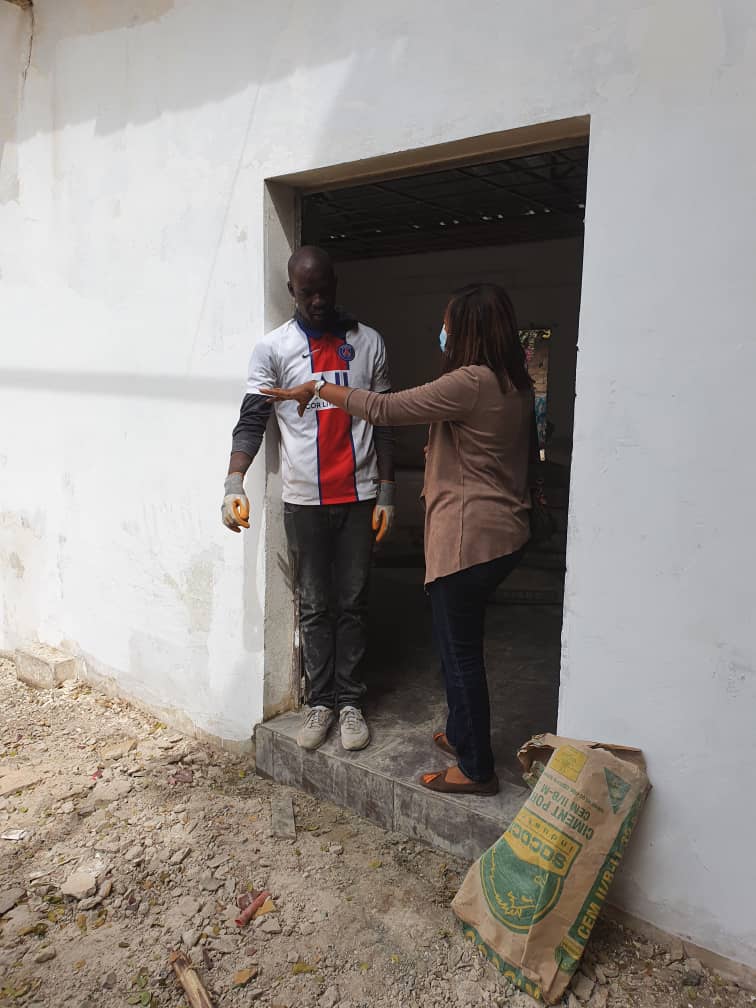
<svg viewBox="0 0 756 1008">
<path fill-rule="evenodd" d="M 293 319 L 268 333 L 249 362 L 247 393 L 290 388 L 313 378 L 334 385 L 388 392 L 386 350 L 379 333 L 360 324 L 334 333 Z M 378 493 L 373 427 L 314 398 L 304 416 L 295 402 L 276 402 L 281 432 L 283 500 L 289 504 L 351 504 Z"/>
</svg>

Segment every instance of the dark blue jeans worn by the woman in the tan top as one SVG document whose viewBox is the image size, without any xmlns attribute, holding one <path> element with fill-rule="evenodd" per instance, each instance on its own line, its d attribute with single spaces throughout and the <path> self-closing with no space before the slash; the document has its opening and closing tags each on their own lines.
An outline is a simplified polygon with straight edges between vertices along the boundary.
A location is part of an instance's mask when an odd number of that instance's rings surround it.
<svg viewBox="0 0 756 1008">
<path fill-rule="evenodd" d="M 486 603 L 521 556 L 522 550 L 518 550 L 487 563 L 477 563 L 438 578 L 427 588 L 447 687 L 447 738 L 457 750 L 462 772 L 479 782 L 490 780 L 494 774 L 483 652 Z"/>
</svg>

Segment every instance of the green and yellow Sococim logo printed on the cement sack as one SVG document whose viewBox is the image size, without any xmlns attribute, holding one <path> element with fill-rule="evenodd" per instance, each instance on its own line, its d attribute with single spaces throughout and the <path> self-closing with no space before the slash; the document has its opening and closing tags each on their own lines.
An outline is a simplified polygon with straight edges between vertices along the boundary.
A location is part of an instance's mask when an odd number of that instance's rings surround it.
<svg viewBox="0 0 756 1008">
<path fill-rule="evenodd" d="M 558 902 L 582 844 L 521 808 L 481 858 L 488 908 L 510 931 L 526 931 Z"/>
</svg>

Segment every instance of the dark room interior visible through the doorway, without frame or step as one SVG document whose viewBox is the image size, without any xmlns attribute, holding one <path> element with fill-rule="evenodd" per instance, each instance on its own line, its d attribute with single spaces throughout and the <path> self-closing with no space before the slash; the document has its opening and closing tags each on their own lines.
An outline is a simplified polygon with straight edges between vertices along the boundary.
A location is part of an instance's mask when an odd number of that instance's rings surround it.
<svg viewBox="0 0 756 1008">
<path fill-rule="evenodd" d="M 520 782 L 518 747 L 556 727 L 587 168 L 587 141 L 573 142 L 301 201 L 302 243 L 328 249 L 340 302 L 383 335 L 395 389 L 437 376 L 438 330 L 454 289 L 493 281 L 514 301 L 557 530 L 527 551 L 487 613 L 494 751 L 500 776 L 512 782 Z M 376 736 L 401 738 L 406 769 L 417 771 L 435 765 L 428 740 L 446 714 L 422 591 L 425 440 L 423 427 L 395 431 L 396 527 L 376 549 L 366 668 Z"/>
</svg>

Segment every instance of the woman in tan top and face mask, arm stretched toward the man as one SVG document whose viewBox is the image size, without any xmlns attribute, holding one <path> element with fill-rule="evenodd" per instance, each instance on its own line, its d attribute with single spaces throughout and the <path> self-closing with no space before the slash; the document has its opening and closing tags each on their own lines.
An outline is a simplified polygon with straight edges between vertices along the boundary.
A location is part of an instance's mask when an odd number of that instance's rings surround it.
<svg viewBox="0 0 756 1008">
<path fill-rule="evenodd" d="M 403 392 L 376 393 L 321 378 L 291 389 L 375 425 L 429 423 L 425 462 L 425 588 L 447 688 L 446 732 L 433 741 L 457 766 L 424 773 L 434 791 L 495 794 L 483 638 L 486 602 L 527 542 L 532 383 L 512 302 L 496 284 L 459 290 L 440 334 L 442 376 Z M 345 354 L 345 359 L 349 353 Z"/>
</svg>

